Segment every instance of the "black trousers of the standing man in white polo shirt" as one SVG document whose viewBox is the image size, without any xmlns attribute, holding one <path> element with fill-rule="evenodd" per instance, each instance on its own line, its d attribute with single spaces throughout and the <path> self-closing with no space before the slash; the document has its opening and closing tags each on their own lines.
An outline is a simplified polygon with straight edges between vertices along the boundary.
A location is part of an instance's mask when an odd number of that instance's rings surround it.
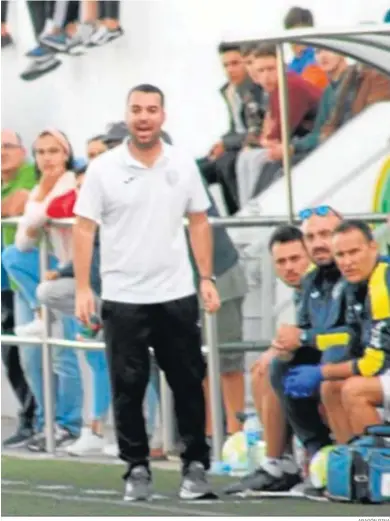
<svg viewBox="0 0 390 521">
<path fill-rule="evenodd" d="M 149 347 L 173 392 L 183 466 L 200 461 L 209 468 L 197 297 L 161 304 L 104 301 L 102 318 L 116 435 L 120 457 L 129 470 L 148 464 L 143 401 L 150 376 Z"/>
</svg>

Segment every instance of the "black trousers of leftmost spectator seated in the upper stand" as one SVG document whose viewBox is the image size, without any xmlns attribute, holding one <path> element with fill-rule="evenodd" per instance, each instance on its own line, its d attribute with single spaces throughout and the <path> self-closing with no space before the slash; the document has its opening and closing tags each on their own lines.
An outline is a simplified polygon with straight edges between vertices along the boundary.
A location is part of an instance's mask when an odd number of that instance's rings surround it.
<svg viewBox="0 0 390 521">
<path fill-rule="evenodd" d="M 207 184 L 219 183 L 229 215 L 238 211 L 238 189 L 236 178 L 236 159 L 239 151 L 228 150 L 216 161 L 208 157 L 197 160 L 198 168 Z"/>
</svg>

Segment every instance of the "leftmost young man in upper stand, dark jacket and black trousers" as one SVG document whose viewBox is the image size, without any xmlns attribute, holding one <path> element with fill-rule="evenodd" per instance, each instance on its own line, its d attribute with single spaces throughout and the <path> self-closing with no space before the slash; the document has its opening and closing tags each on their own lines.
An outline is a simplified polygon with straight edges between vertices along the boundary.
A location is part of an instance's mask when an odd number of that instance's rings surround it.
<svg viewBox="0 0 390 521">
<path fill-rule="evenodd" d="M 238 46 L 221 43 L 219 54 L 228 80 L 221 94 L 229 112 L 230 129 L 206 157 L 198 160 L 198 166 L 209 185 L 221 185 L 227 211 L 234 214 L 239 207 L 235 163 L 248 130 L 247 98 L 261 104 L 262 91 L 248 77 Z"/>
</svg>

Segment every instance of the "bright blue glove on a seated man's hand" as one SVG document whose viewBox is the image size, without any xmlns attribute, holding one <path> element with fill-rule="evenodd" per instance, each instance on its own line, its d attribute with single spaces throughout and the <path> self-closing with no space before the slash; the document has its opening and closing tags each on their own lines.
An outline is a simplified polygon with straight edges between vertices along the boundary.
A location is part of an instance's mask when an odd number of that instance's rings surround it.
<svg viewBox="0 0 390 521">
<path fill-rule="evenodd" d="M 289 369 L 284 392 L 292 398 L 308 398 L 318 391 L 323 379 L 320 365 L 299 365 Z"/>
</svg>

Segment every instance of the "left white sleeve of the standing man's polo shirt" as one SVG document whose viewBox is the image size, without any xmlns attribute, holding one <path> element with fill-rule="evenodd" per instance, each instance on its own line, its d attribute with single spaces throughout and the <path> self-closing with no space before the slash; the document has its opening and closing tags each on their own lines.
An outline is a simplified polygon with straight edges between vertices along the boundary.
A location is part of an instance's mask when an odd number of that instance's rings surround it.
<svg viewBox="0 0 390 521">
<path fill-rule="evenodd" d="M 75 215 L 95 221 L 99 225 L 103 216 L 103 190 L 99 175 L 100 168 L 100 161 L 98 165 L 92 162 L 88 167 L 73 209 Z"/>
</svg>

